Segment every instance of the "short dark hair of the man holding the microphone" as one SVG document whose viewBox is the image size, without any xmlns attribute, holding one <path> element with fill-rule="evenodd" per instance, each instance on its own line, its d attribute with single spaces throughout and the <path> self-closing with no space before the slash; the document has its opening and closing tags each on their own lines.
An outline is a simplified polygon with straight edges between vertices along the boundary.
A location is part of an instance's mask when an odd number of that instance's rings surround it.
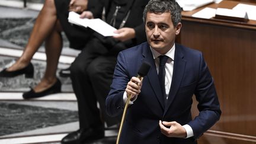
<svg viewBox="0 0 256 144">
<path fill-rule="evenodd" d="M 176 27 L 181 22 L 181 7 L 175 0 L 151 0 L 146 5 L 143 12 L 143 21 L 146 22 L 146 15 L 148 12 L 153 13 L 171 13 L 171 20 L 173 25 Z"/>
</svg>

